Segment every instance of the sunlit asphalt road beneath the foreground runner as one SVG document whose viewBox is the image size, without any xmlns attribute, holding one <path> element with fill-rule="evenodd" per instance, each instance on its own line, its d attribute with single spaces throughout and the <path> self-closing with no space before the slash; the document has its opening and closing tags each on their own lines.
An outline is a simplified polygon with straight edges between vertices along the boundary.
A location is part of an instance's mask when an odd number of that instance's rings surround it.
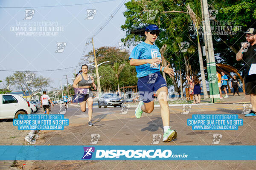
<svg viewBox="0 0 256 170">
<path fill-rule="evenodd" d="M 37 145 L 90 145 L 91 135 L 98 134 L 94 145 L 151 145 L 153 135 L 163 135 L 160 108 L 151 114 L 143 113 L 140 119 L 134 116 L 135 108 L 93 108 L 92 121 L 88 126 L 87 111 L 82 113 L 79 107 L 69 106 L 65 118 L 70 125 L 64 130 L 42 130 L 38 134 Z M 214 136 L 222 138 L 218 145 L 255 145 L 256 116 L 244 117 L 242 104 L 192 105 L 189 113 L 181 114 L 183 106 L 170 107 L 170 125 L 177 130 L 178 136 L 172 142 L 157 145 L 214 145 Z M 51 114 L 63 112 L 55 105 Z M 42 109 L 38 111 L 42 113 Z M 38 114 L 37 113 L 37 114 Z M 64 112 L 63 112 L 64 113 Z M 121 114 L 120 114 L 121 113 Z M 187 119 L 192 114 L 230 114 L 239 115 L 244 125 L 239 130 L 192 130 Z M 10 122 L 12 123 L 12 122 Z M 218 152 L 218 151 L 216 151 Z M 18 161 L 23 170 L 87 170 L 87 169 L 175 169 L 175 170 L 253 170 L 255 161 Z M 26 164 L 23 166 L 23 164 Z"/>
</svg>

